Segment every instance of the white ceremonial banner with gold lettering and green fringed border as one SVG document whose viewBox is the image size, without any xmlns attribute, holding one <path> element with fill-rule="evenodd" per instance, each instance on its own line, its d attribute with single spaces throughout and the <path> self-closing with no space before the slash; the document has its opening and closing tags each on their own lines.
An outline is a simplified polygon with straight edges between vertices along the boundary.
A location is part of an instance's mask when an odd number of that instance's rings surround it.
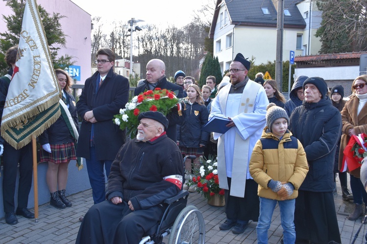
<svg viewBox="0 0 367 244">
<path fill-rule="evenodd" d="M 61 90 L 35 0 L 25 0 L 15 65 L 1 119 L 1 136 L 20 149 L 61 114 Z"/>
</svg>

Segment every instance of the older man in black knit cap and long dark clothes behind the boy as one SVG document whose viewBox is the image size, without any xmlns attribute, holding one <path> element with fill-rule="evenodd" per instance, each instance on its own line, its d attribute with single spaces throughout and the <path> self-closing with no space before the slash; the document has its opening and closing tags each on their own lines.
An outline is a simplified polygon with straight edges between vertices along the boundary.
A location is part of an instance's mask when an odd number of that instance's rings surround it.
<svg viewBox="0 0 367 244">
<path fill-rule="evenodd" d="M 333 169 L 342 116 L 326 95 L 328 88 L 322 78 L 306 79 L 303 90 L 305 100 L 292 112 L 289 128 L 302 143 L 309 164 L 296 199 L 296 243 L 341 243 Z"/>
</svg>

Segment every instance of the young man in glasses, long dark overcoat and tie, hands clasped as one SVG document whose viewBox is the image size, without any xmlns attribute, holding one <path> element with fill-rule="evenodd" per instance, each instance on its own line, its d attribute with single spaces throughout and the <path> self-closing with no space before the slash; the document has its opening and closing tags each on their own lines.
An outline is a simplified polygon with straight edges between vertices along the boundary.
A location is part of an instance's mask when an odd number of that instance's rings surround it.
<svg viewBox="0 0 367 244">
<path fill-rule="evenodd" d="M 115 114 L 125 108 L 129 81 L 114 72 L 115 54 L 111 49 L 97 51 L 98 71 L 85 82 L 76 110 L 83 122 L 76 155 L 86 158 L 94 204 L 105 200 L 105 167 L 110 174 L 112 161 L 125 143 L 125 132 L 113 123 Z"/>
</svg>

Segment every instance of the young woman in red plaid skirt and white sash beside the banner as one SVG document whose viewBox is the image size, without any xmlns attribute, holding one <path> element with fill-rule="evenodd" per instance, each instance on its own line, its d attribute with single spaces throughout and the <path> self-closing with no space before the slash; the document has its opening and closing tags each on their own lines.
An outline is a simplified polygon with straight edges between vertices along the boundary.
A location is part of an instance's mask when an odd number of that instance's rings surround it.
<svg viewBox="0 0 367 244">
<path fill-rule="evenodd" d="M 72 205 L 65 197 L 65 190 L 69 162 L 76 160 L 75 138 L 79 132 L 79 125 L 75 98 L 69 90 L 71 78 L 62 69 L 56 69 L 55 72 L 62 89 L 60 100 L 62 112 L 56 122 L 39 136 L 43 148 L 40 162 L 48 162 L 46 182 L 51 195 L 50 204 L 56 208 L 66 208 Z"/>
</svg>

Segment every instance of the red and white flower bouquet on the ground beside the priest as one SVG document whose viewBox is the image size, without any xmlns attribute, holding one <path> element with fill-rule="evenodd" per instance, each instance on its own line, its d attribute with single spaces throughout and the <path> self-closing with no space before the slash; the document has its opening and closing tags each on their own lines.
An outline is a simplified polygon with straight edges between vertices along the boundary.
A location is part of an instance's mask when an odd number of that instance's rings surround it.
<svg viewBox="0 0 367 244">
<path fill-rule="evenodd" d="M 209 159 L 200 158 L 200 169 L 195 169 L 192 177 L 188 179 L 189 186 L 195 186 L 196 191 L 210 200 L 215 194 L 224 196 L 224 189 L 219 188 L 218 162 L 216 156 L 209 156 Z"/>
</svg>

